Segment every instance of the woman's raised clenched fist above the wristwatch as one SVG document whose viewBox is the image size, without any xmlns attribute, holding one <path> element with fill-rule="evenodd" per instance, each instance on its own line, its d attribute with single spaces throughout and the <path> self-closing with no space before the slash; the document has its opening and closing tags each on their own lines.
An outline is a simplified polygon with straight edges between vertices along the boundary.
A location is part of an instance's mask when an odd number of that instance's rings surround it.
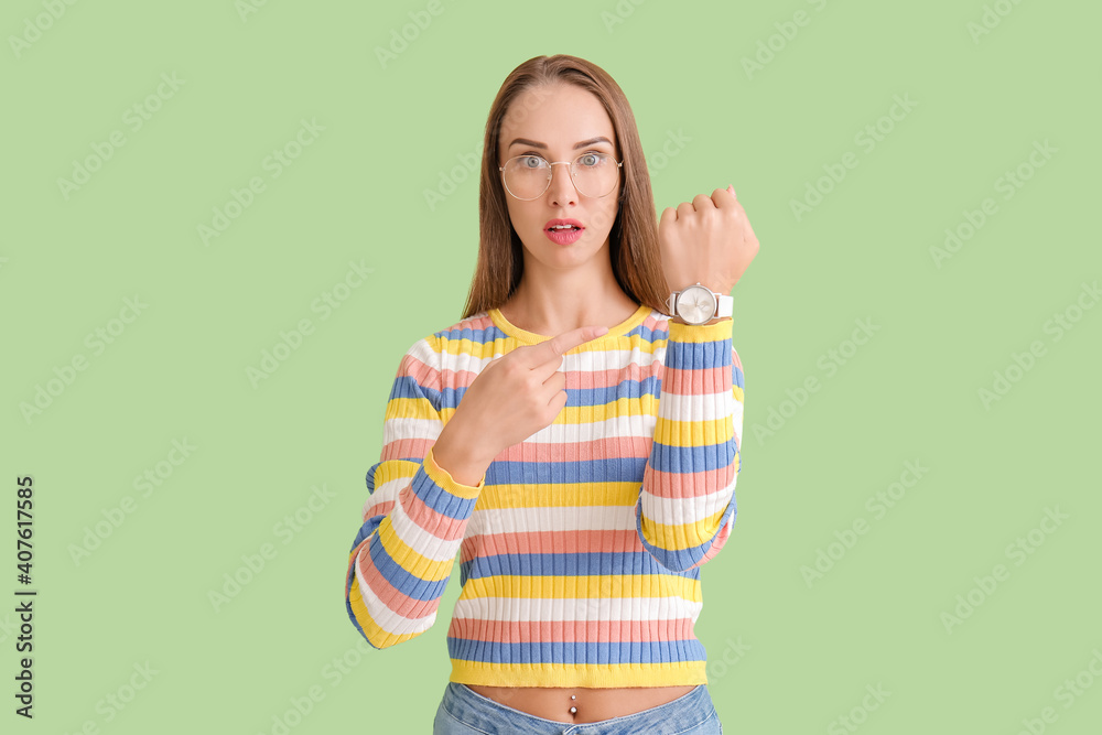
<svg viewBox="0 0 1102 735">
<path fill-rule="evenodd" d="M 671 292 L 699 281 L 728 294 L 758 251 L 734 186 L 717 188 L 712 196 L 698 194 L 677 209 L 666 207 L 658 221 L 658 244 Z"/>
</svg>

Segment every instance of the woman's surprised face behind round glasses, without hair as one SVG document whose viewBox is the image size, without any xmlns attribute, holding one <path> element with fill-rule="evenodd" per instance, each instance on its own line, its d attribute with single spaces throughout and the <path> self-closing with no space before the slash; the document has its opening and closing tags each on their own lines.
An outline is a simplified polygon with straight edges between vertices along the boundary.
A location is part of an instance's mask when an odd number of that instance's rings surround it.
<svg viewBox="0 0 1102 735">
<path fill-rule="evenodd" d="M 540 155 L 548 162 L 569 163 L 587 152 L 611 156 L 613 167 L 620 160 L 612 119 L 601 100 L 581 87 L 528 89 L 514 99 L 501 120 L 500 165 L 518 155 Z M 581 165 L 595 160 L 586 156 Z M 534 164 L 532 159 L 525 161 Z M 534 199 L 521 201 L 506 192 L 512 227 L 525 245 L 526 272 L 530 272 L 533 258 L 548 268 L 561 270 L 592 262 L 598 256 L 608 257 L 608 234 L 616 219 L 623 186 L 622 169 L 616 172 L 616 185 L 601 197 L 579 193 L 570 176 L 570 165 L 565 164 L 551 166 L 551 184 Z M 549 224 L 553 219 L 580 224 L 579 237 L 570 241 L 566 230 L 560 230 L 559 239 L 552 239 Z"/>
</svg>

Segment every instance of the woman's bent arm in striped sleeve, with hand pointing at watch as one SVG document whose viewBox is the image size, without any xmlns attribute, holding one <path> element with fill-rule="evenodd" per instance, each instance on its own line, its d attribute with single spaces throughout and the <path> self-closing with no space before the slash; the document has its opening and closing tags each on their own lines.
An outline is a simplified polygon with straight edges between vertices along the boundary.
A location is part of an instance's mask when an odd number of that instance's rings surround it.
<svg viewBox="0 0 1102 735">
<path fill-rule="evenodd" d="M 579 327 L 490 360 L 469 386 L 454 387 L 462 411 L 455 406 L 446 424 L 442 341 L 421 339 L 402 358 L 345 577 L 348 616 L 371 646 L 395 646 L 435 623 L 494 457 L 554 421 L 568 398 L 562 356 L 605 332 Z"/>
</svg>

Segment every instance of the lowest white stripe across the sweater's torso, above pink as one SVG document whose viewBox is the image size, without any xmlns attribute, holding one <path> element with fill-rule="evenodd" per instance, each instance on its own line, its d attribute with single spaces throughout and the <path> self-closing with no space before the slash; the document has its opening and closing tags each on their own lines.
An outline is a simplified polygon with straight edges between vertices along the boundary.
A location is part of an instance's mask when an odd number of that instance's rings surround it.
<svg viewBox="0 0 1102 735">
<path fill-rule="evenodd" d="M 554 623 L 560 620 L 673 620 L 700 617 L 704 603 L 683 597 L 511 598 L 462 596 L 452 619 Z"/>
</svg>

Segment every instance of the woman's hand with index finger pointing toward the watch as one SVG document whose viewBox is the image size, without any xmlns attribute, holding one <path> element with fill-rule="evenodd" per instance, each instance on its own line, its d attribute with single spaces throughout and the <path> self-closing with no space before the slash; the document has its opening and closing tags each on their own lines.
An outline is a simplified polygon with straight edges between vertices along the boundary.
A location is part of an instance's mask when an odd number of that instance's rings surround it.
<svg viewBox="0 0 1102 735">
<path fill-rule="evenodd" d="M 607 332 L 579 327 L 490 361 L 464 392 L 441 439 L 450 433 L 465 445 L 464 453 L 489 466 L 504 450 L 558 418 L 566 404 L 566 375 L 559 370 L 563 355 Z"/>
</svg>

